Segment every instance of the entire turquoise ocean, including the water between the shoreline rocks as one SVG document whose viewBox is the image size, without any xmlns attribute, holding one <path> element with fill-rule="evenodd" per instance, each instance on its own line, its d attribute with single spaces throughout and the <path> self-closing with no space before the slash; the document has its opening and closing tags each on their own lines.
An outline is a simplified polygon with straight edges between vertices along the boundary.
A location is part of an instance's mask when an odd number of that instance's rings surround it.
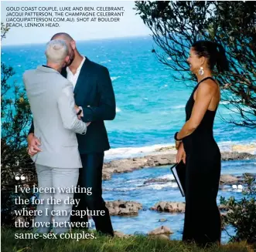
<svg viewBox="0 0 256 252">
<path fill-rule="evenodd" d="M 117 116 L 113 121 L 105 122 L 111 143 L 111 150 L 105 155 L 106 160 L 139 156 L 157 147 L 172 145 L 174 133 L 185 122 L 185 105 L 192 89 L 172 79 L 171 74 L 177 73 L 158 62 L 152 53 L 153 45 L 150 36 L 77 42 L 77 49 L 82 55 L 108 67 L 114 86 Z M 22 85 L 22 73 L 26 69 L 45 64 L 44 49 L 43 44 L 2 47 L 2 62 L 15 69 L 15 76 L 9 83 L 15 81 Z M 225 106 L 227 104 L 220 102 L 214 123 L 214 136 L 220 149 L 232 150 L 233 146 L 255 144 L 256 129 L 234 126 L 221 119 L 235 116 L 232 109 Z M 110 181 L 103 183 L 104 200 L 134 200 L 141 202 L 147 209 L 159 200 L 182 201 L 173 184 L 142 186 L 148 177 L 169 176 L 167 168 L 146 168 L 114 175 Z M 255 168 L 255 160 L 223 162 L 222 173 L 240 174 L 244 170 L 255 172 Z M 148 197 L 145 197 L 146 194 Z M 241 197 L 241 192 L 220 192 L 220 195 L 223 194 L 225 197 Z M 162 217 L 167 219 L 167 223 L 158 223 Z M 112 217 L 112 221 L 115 230 L 127 234 L 170 224 L 176 231 L 172 235 L 176 239 L 181 238 L 183 228 L 183 214 L 160 214 L 150 210 L 142 211 L 138 217 Z M 224 235 L 224 241 L 227 238 Z"/>
</svg>

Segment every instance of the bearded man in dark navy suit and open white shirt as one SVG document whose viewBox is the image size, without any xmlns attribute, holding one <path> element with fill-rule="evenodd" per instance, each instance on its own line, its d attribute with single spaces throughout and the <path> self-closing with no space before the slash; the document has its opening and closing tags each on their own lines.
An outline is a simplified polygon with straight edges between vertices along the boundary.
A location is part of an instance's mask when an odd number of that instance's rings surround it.
<svg viewBox="0 0 256 252">
<path fill-rule="evenodd" d="M 77 193 L 80 198 L 78 207 L 73 210 L 104 210 L 103 216 L 93 216 L 97 231 L 114 236 L 108 208 L 102 198 L 102 167 L 104 151 L 109 150 L 108 134 L 104 120 L 113 120 L 115 117 L 114 90 L 108 69 L 91 62 L 80 55 L 76 42 L 67 33 L 57 33 L 53 39 L 63 39 L 69 46 L 70 62 L 61 74 L 73 83 L 75 109 L 80 119 L 90 124 L 85 135 L 77 134 L 78 149 L 83 168 L 80 169 L 78 186 L 91 187 L 91 195 Z M 34 136 L 33 124 L 29 130 L 29 155 L 38 151 L 39 139 Z M 43 150 L 42 150 L 43 151 Z M 87 216 L 71 216 L 71 221 L 87 221 Z"/>
</svg>

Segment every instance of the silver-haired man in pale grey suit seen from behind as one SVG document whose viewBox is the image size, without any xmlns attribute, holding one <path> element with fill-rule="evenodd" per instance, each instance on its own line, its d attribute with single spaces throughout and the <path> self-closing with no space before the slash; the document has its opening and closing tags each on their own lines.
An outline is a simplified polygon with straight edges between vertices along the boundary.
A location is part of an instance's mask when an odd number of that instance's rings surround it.
<svg viewBox="0 0 256 252">
<path fill-rule="evenodd" d="M 32 111 L 35 136 L 40 139 L 40 152 L 32 156 L 36 163 L 39 194 L 42 204 L 37 206 L 42 215 L 35 222 L 41 223 L 36 233 L 48 233 L 52 214 L 55 233 L 70 230 L 70 212 L 73 193 L 62 192 L 60 188 L 72 190 L 77 186 L 79 168 L 82 167 L 76 133 L 84 135 L 87 123 L 77 118 L 73 98 L 73 85 L 61 76 L 60 71 L 70 62 L 69 49 L 63 40 L 52 40 L 46 46 L 46 66 L 28 70 L 23 82 Z M 47 191 L 49 190 L 49 191 Z M 59 200 L 57 204 L 54 200 Z"/>
</svg>

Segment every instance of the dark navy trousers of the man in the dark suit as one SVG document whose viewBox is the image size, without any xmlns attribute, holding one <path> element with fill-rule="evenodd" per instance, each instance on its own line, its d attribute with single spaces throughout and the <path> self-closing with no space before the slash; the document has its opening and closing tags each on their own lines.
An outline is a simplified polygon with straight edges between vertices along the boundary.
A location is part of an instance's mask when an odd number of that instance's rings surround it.
<svg viewBox="0 0 256 252">
<path fill-rule="evenodd" d="M 102 166 L 104 153 L 82 154 L 80 155 L 83 168 L 80 169 L 77 186 L 91 187 L 91 195 L 87 193 L 75 193 L 74 199 L 80 199 L 77 207 L 73 210 L 104 210 L 104 216 L 93 216 L 96 230 L 102 234 L 114 236 L 111 218 L 108 208 L 102 198 Z M 87 222 L 87 215 L 83 218 L 71 216 L 71 222 Z"/>
</svg>

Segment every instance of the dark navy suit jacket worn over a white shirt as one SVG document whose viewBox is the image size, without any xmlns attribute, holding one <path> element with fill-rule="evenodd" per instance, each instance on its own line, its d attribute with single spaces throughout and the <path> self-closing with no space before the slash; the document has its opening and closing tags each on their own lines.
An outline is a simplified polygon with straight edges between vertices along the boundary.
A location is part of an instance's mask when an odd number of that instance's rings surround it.
<svg viewBox="0 0 256 252">
<path fill-rule="evenodd" d="M 66 68 L 61 74 L 67 78 Z M 83 108 L 83 121 L 91 122 L 85 135 L 77 134 L 80 154 L 101 153 L 109 150 L 104 120 L 114 119 L 115 98 L 108 69 L 85 59 L 73 92 L 77 106 Z M 32 123 L 29 133 L 34 132 L 33 128 Z"/>
</svg>

